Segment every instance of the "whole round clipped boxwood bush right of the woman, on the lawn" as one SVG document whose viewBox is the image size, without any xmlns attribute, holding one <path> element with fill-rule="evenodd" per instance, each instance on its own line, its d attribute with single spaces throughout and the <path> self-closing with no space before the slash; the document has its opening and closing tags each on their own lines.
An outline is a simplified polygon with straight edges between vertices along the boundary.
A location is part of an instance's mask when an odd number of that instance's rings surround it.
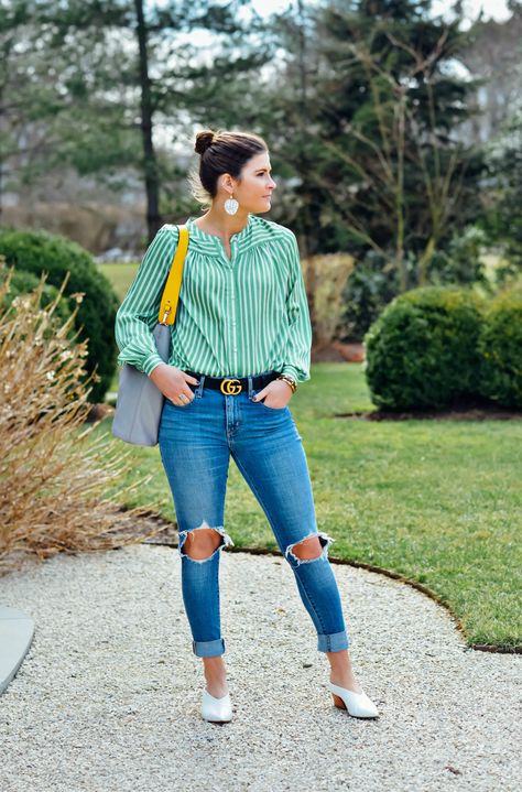
<svg viewBox="0 0 522 792">
<path fill-rule="evenodd" d="M 396 296 L 365 335 L 372 402 L 391 411 L 448 406 L 478 392 L 483 299 L 459 286 Z"/>
</svg>

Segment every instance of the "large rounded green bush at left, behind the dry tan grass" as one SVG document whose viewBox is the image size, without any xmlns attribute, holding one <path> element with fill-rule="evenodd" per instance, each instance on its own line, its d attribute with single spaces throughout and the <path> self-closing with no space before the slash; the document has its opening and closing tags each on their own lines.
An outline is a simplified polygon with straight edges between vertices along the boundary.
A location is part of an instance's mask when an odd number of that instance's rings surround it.
<svg viewBox="0 0 522 792">
<path fill-rule="evenodd" d="M 46 283 L 59 289 L 66 272 L 70 272 L 64 296 L 84 292 L 76 315 L 78 341 L 88 339 L 87 376 L 96 369 L 100 378 L 91 382 L 89 399 L 102 401 L 116 371 L 118 350 L 115 340 L 115 319 L 118 297 L 110 281 L 97 269 L 93 257 L 77 242 L 45 230 L 0 229 L 0 254 L 8 267 L 24 270 L 40 278 L 47 272 Z M 75 302 L 70 297 L 70 310 Z"/>
</svg>

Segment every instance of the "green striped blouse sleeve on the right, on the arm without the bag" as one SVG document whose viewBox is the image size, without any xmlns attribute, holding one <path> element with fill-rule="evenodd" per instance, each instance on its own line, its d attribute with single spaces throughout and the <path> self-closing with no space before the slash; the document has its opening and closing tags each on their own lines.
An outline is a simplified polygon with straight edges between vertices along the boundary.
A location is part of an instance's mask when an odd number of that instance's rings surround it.
<svg viewBox="0 0 522 792">
<path fill-rule="evenodd" d="M 301 257 L 295 235 L 291 232 L 290 283 L 286 297 L 289 319 L 289 344 L 282 373 L 287 373 L 297 382 L 309 380 L 312 323 L 308 301 L 301 269 Z"/>
</svg>

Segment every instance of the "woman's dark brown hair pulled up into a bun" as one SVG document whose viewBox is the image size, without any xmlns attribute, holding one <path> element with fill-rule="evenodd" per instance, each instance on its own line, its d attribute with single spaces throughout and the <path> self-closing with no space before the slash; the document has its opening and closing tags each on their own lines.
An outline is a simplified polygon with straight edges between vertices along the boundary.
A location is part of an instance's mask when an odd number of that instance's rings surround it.
<svg viewBox="0 0 522 792">
<path fill-rule="evenodd" d="M 264 140 L 252 132 L 197 132 L 194 150 L 199 154 L 199 171 L 191 174 L 194 197 L 209 206 L 217 195 L 217 182 L 224 173 L 239 178 L 243 165 L 269 148 Z"/>
</svg>

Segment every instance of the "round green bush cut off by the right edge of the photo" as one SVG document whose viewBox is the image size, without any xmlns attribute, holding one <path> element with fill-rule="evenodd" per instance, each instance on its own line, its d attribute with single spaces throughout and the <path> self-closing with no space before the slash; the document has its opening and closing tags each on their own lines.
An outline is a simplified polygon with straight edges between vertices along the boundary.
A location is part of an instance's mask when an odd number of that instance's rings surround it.
<svg viewBox="0 0 522 792">
<path fill-rule="evenodd" d="M 479 337 L 480 393 L 502 406 L 522 406 L 522 282 L 489 305 Z"/>
</svg>

